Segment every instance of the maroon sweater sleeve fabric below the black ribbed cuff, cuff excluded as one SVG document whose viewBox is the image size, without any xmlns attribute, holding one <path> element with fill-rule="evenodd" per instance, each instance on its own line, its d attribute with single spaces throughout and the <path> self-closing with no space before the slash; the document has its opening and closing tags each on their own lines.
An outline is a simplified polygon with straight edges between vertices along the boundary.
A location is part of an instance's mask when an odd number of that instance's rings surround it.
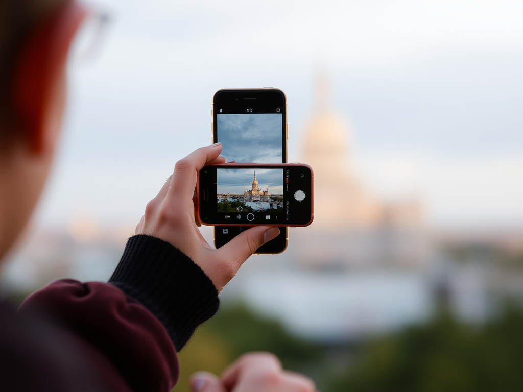
<svg viewBox="0 0 523 392">
<path fill-rule="evenodd" d="M 178 381 L 176 350 L 162 323 L 111 284 L 59 280 L 27 297 L 19 313 L 46 318 L 76 337 L 81 344 L 71 349 L 97 369 L 104 385 L 122 379 L 135 392 L 165 392 Z M 93 352 L 103 360 L 95 363 Z"/>
</svg>

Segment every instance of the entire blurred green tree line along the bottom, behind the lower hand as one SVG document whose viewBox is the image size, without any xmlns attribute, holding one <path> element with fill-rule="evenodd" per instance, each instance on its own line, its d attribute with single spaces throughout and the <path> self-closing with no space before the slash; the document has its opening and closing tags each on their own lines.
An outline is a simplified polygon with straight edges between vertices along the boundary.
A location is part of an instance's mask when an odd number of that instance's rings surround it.
<svg viewBox="0 0 523 392">
<path fill-rule="evenodd" d="M 322 344 L 293 336 L 244 305 L 221 309 L 180 352 L 180 381 L 198 370 L 220 374 L 247 351 L 274 352 L 285 368 L 323 392 L 523 391 L 523 311 L 506 306 L 484 325 L 445 309 L 424 325 L 356 342 Z"/>
</svg>

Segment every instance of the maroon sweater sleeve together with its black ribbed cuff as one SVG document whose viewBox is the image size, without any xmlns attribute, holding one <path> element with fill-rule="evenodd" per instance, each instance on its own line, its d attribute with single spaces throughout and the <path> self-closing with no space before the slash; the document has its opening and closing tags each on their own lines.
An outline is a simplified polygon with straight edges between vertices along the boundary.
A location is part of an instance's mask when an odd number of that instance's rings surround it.
<svg viewBox="0 0 523 392">
<path fill-rule="evenodd" d="M 114 366 L 134 391 L 166 391 L 178 379 L 176 351 L 218 310 L 203 271 L 163 240 L 131 237 L 109 283 L 56 281 L 20 312 L 52 317 Z M 107 366 L 100 372 L 107 373 Z"/>
</svg>

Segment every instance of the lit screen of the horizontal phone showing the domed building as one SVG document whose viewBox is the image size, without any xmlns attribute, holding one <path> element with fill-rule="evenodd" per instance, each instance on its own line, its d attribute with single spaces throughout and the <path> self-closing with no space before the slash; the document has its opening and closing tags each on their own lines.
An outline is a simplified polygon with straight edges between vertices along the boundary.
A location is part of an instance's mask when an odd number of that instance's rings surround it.
<svg viewBox="0 0 523 392">
<path fill-rule="evenodd" d="M 217 193 L 217 212 L 231 223 L 284 219 L 283 169 L 218 169 Z"/>
</svg>

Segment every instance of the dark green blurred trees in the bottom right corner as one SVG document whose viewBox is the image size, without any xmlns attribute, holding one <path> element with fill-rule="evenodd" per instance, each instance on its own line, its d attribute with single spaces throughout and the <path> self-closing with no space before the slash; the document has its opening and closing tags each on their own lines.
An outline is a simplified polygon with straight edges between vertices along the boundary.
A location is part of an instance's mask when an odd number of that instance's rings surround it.
<svg viewBox="0 0 523 392">
<path fill-rule="evenodd" d="M 521 391 L 523 313 L 509 308 L 483 328 L 441 315 L 425 326 L 369 341 L 326 390 Z"/>
</svg>

